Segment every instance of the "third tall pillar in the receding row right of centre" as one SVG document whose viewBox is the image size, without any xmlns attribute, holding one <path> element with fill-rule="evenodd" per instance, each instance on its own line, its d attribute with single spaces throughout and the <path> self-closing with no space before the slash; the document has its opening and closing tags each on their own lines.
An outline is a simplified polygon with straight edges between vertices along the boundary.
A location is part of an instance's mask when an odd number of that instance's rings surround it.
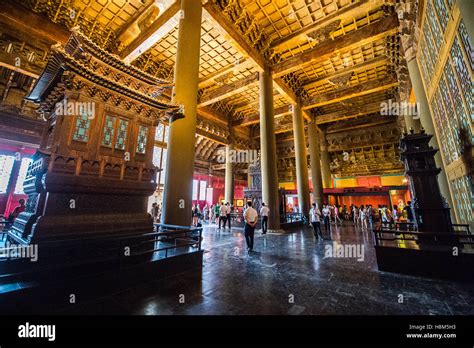
<svg viewBox="0 0 474 348">
<path fill-rule="evenodd" d="M 319 134 L 316 129 L 316 123 L 308 124 L 308 140 L 309 140 L 309 159 L 311 163 L 311 181 L 313 182 L 313 200 L 322 209 L 323 196 L 323 179 L 321 176 L 321 162 L 319 158 Z"/>
</svg>

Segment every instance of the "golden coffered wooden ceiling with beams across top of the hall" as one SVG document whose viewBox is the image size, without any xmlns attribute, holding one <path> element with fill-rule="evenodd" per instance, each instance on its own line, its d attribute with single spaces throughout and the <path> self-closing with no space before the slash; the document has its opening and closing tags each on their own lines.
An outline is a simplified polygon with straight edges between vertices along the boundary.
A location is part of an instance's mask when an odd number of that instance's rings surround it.
<svg viewBox="0 0 474 348">
<path fill-rule="evenodd" d="M 339 124 L 347 130 L 363 131 L 384 122 L 371 115 L 377 114 L 384 101 L 404 99 L 410 88 L 402 46 L 416 8 L 407 1 L 392 5 L 384 0 L 207 1 L 201 23 L 199 136 L 220 145 L 234 141 L 242 148 L 258 147 L 258 71 L 262 64 L 274 71 L 277 135 L 291 136 L 289 106 L 296 101 L 301 103 L 306 121 L 314 117 L 318 126 L 328 131 Z M 19 6 L 58 28 L 70 31 L 79 27 L 84 38 L 97 46 L 97 52 L 105 50 L 115 57 L 110 59 L 129 64 L 130 71 L 142 71 L 145 75 L 139 79 L 173 81 L 180 15 L 173 0 L 27 0 Z M 169 20 L 162 20 L 163 16 Z M 157 23 L 161 26 L 151 31 Z M 156 42 L 143 46 L 148 34 L 154 34 Z M 12 59 L 18 56 L 25 71 L 37 78 L 50 52 L 58 54 L 58 49 L 50 51 L 48 45 L 34 43 L 2 31 L 2 61 L 5 57 L 12 67 Z M 94 70 L 93 61 L 82 59 L 78 64 L 72 57 L 63 58 L 82 73 Z M 171 88 L 145 90 L 147 83 L 130 84 L 107 69 L 94 74 L 103 81 L 111 79 L 128 96 L 109 96 L 77 79 L 72 86 L 86 89 L 94 97 L 115 98 L 134 112 L 140 108 L 127 99 L 130 96 L 145 104 L 151 103 L 146 98 L 170 103 Z M 29 88 L 34 76 L 30 85 L 25 82 Z M 8 74 L 4 77 L 5 85 L 10 78 Z M 13 81 L 16 78 L 13 76 Z M 385 125 L 399 126 L 399 122 Z M 240 135 L 230 136 L 233 128 Z M 253 139 L 251 133 L 256 135 Z M 334 146 L 337 149 L 341 144 Z"/>
</svg>

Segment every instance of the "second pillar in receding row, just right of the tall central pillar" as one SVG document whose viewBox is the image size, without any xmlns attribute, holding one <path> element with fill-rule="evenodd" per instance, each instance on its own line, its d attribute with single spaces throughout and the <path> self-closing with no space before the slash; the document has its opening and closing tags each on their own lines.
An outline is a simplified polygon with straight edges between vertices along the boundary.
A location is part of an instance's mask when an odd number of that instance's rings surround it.
<svg viewBox="0 0 474 348">
<path fill-rule="evenodd" d="M 292 105 L 293 111 L 293 137 L 295 143 L 296 159 L 296 186 L 298 189 L 298 202 L 300 213 L 308 216 L 309 212 L 309 182 L 308 182 L 308 156 L 306 154 L 306 139 L 304 135 L 304 121 L 301 107 Z"/>
</svg>

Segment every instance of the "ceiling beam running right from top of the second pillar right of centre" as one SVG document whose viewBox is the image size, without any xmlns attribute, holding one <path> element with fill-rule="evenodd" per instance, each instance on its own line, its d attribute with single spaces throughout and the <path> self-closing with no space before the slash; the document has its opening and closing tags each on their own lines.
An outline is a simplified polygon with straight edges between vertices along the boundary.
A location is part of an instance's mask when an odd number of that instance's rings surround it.
<svg viewBox="0 0 474 348">
<path fill-rule="evenodd" d="M 302 103 L 301 108 L 304 110 L 312 109 L 318 106 L 338 103 L 343 100 L 360 97 L 363 95 L 376 93 L 390 89 L 398 85 L 398 81 L 395 77 L 386 77 L 381 80 L 373 80 L 369 82 L 360 83 L 358 85 L 336 90 L 334 92 L 328 92 L 317 95 L 310 98 Z"/>
</svg>

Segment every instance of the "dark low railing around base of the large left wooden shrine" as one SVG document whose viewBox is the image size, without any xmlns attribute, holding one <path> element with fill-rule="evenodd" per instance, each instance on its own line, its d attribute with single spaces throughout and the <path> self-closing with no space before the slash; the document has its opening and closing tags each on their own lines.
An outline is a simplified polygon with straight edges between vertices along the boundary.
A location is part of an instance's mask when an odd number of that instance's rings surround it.
<svg viewBox="0 0 474 348">
<path fill-rule="evenodd" d="M 51 265 L 45 260 L 66 261 L 65 264 L 68 267 L 105 262 L 118 265 L 121 269 L 125 264 L 145 262 L 145 260 L 158 261 L 170 256 L 201 251 L 202 228 L 155 224 L 155 229 L 155 232 L 142 234 L 44 241 L 38 248 L 38 260 L 41 261 L 41 265 L 32 266 L 31 268 L 34 269 L 26 268 L 26 270 L 16 272 L 15 269 L 9 269 L 8 264 L 23 262 L 25 259 L 4 258 L 2 260 L 4 262 L 0 263 L 3 265 L 3 271 L 0 269 L 0 280 L 4 276 L 26 276 L 42 269 L 45 265 L 48 270 L 60 269 L 64 266 L 58 262 Z M 8 255 L 9 249 L 14 248 L 15 246 L 0 248 L 0 255 Z M 174 253 L 171 253 L 172 250 Z M 28 265 L 33 264 L 28 262 Z M 8 273 L 5 274 L 5 271 Z"/>
</svg>

